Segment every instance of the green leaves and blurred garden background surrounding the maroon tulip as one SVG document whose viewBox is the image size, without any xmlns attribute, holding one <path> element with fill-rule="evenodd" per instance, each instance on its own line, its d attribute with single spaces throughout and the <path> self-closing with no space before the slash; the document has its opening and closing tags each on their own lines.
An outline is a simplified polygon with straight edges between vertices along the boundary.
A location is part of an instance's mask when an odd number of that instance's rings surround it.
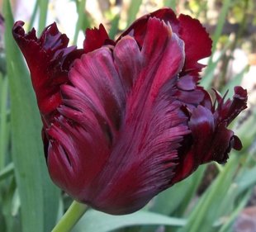
<svg viewBox="0 0 256 232">
<path fill-rule="evenodd" d="M 47 232 L 69 207 L 71 199 L 50 181 L 40 139 L 40 116 L 26 64 L 12 39 L 13 17 L 24 1 L 0 1 L 0 231 Z M 68 1 L 67 1 L 68 2 Z M 232 151 L 225 166 L 204 165 L 190 178 L 156 196 L 145 209 L 111 216 L 89 210 L 73 230 L 86 232 L 256 231 L 256 2 L 254 0 L 98 0 L 70 1 L 77 9 L 71 43 L 79 43 L 86 27 L 107 26 L 112 38 L 136 17 L 159 7 L 197 17 L 213 39 L 213 56 L 205 60 L 201 84 L 221 93 L 242 84 L 249 89 L 249 109 L 232 129 L 244 149 Z M 91 9 L 93 4 L 96 6 Z M 56 1 L 36 0 L 27 28 L 45 27 Z M 91 4 L 91 5 L 90 5 Z M 94 6 L 93 5 L 93 6 Z M 66 17 L 69 17 L 68 15 Z M 23 20 L 21 18 L 21 20 Z M 3 30 L 4 29 L 4 30 Z M 62 30 L 63 29 L 63 30 Z M 3 38 L 4 37 L 4 38 Z"/>
</svg>

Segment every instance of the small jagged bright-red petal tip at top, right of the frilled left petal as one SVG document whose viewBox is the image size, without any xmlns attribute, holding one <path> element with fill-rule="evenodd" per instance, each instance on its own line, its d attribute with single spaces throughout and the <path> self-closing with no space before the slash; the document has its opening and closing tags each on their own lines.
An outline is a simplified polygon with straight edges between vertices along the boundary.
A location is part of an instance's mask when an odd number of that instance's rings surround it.
<svg viewBox="0 0 256 232">
<path fill-rule="evenodd" d="M 87 29 L 85 31 L 85 40 L 83 41 L 83 50 L 88 53 L 92 50 L 97 50 L 102 45 L 115 45 L 115 42 L 110 40 L 105 27 L 100 24 L 99 29 Z"/>
</svg>

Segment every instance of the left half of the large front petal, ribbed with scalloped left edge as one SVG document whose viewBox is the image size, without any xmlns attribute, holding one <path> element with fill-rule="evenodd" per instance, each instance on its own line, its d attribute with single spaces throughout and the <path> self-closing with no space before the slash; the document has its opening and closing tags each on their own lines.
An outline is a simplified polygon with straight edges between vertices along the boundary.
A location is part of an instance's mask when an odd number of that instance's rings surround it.
<svg viewBox="0 0 256 232">
<path fill-rule="evenodd" d="M 132 45 L 129 49 L 138 51 Z M 92 201 L 106 187 L 105 183 L 100 189 L 93 180 L 107 165 L 111 147 L 118 140 L 126 97 L 107 47 L 83 54 L 74 62 L 69 79 L 72 86 L 62 87 L 64 105 L 59 107 L 64 118 L 56 118 L 48 130 L 50 144 L 55 145 L 49 147 L 48 167 L 51 178 L 64 191 L 79 201 Z M 69 162 L 70 168 L 65 168 Z"/>
</svg>

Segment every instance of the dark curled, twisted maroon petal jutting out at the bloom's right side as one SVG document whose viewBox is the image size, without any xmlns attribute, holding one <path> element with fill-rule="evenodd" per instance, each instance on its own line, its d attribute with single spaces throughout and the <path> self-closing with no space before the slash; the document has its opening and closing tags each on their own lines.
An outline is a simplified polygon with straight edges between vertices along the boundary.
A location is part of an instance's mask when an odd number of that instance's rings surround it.
<svg viewBox="0 0 256 232">
<path fill-rule="evenodd" d="M 225 163 L 232 148 L 242 149 L 241 141 L 227 126 L 246 108 L 246 90 L 236 87 L 233 101 L 226 102 L 216 92 L 216 101 L 215 111 L 201 105 L 192 111 L 188 122 L 192 134 L 184 140 L 183 146 L 187 149 L 180 150 L 173 182 L 187 178 L 202 163 Z"/>
</svg>

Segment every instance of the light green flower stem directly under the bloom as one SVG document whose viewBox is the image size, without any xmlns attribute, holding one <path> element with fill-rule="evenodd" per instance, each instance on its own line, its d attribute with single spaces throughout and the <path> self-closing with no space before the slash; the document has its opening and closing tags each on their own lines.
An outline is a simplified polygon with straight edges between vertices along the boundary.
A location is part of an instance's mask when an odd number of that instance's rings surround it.
<svg viewBox="0 0 256 232">
<path fill-rule="evenodd" d="M 65 212 L 51 232 L 69 232 L 83 216 L 85 211 L 87 211 L 87 208 L 86 205 L 73 201 L 71 206 L 69 206 L 69 210 Z"/>
</svg>

